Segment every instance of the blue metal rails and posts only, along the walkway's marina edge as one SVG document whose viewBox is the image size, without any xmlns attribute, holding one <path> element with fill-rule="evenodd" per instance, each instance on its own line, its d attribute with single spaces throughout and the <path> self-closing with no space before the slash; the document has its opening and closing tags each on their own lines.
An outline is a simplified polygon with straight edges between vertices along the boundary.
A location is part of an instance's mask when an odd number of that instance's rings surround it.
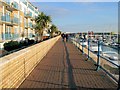
<svg viewBox="0 0 120 90">
<path fill-rule="evenodd" d="M 110 63 L 110 64 L 112 64 L 112 65 L 114 65 L 117 69 L 118 69 L 118 72 L 120 72 L 120 65 L 117 65 L 117 64 L 115 64 L 114 62 L 112 62 L 112 61 L 110 61 L 108 58 L 106 58 L 106 57 L 104 57 L 104 56 L 102 56 L 101 54 L 100 54 L 100 50 L 99 50 L 99 46 L 100 45 L 103 45 L 103 44 L 101 44 L 100 43 L 100 41 L 98 41 L 99 43 L 97 43 L 97 45 L 98 45 L 98 53 L 95 53 L 94 51 L 92 51 L 91 49 L 89 49 L 89 46 L 88 47 L 84 47 L 83 46 L 83 43 L 81 44 L 81 43 L 79 43 L 77 40 L 75 40 L 74 38 L 70 38 L 70 40 L 77 46 L 77 44 L 78 44 L 78 48 L 79 49 L 81 49 L 80 48 L 80 46 L 82 46 L 82 52 L 84 53 L 84 48 L 86 48 L 88 51 L 88 53 L 89 52 L 92 52 L 93 54 L 95 54 L 96 56 L 97 56 L 97 62 L 96 62 L 96 66 L 97 67 L 99 67 L 99 68 L 101 68 L 103 71 L 105 71 L 114 81 L 116 81 L 118 84 L 120 83 L 120 80 L 119 80 L 119 78 L 120 78 L 120 75 L 118 76 L 118 79 L 112 74 L 112 73 L 110 73 L 109 71 L 107 71 L 106 69 L 105 69 L 105 67 L 103 67 L 101 64 L 100 64 L 100 61 L 101 61 L 101 59 L 103 59 L 103 60 L 105 60 L 105 61 L 107 61 L 108 63 Z M 89 43 L 89 40 L 87 40 L 88 41 L 88 45 L 90 45 Z M 91 56 L 89 55 L 87 53 L 87 55 L 88 55 L 88 58 L 90 57 L 91 58 Z M 101 58 L 101 59 L 99 59 L 99 58 Z M 93 59 L 93 58 L 92 58 Z M 102 60 L 102 61 L 103 61 Z M 98 68 L 96 68 L 96 70 L 99 70 Z M 119 87 L 119 85 L 118 85 L 118 87 Z"/>
</svg>

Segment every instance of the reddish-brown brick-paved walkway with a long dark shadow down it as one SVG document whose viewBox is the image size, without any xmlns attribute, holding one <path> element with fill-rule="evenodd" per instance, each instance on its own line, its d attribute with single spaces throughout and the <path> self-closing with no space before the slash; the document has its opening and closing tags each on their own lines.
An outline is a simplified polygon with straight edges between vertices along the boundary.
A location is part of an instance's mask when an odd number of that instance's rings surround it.
<svg viewBox="0 0 120 90">
<path fill-rule="evenodd" d="M 58 40 L 19 88 L 77 88 L 116 90 L 104 72 L 70 42 Z"/>
</svg>

